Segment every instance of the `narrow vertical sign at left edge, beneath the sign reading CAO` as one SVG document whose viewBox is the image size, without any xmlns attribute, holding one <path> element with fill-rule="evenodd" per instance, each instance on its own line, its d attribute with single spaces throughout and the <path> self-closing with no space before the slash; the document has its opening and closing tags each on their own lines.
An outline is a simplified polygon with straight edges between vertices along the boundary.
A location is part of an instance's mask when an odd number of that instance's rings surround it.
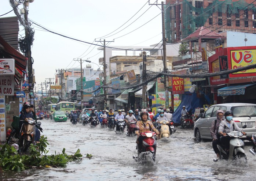
<svg viewBox="0 0 256 181">
<path fill-rule="evenodd" d="M 0 96 L 0 141 L 6 141 L 6 113 L 5 113 L 5 96 Z"/>
</svg>

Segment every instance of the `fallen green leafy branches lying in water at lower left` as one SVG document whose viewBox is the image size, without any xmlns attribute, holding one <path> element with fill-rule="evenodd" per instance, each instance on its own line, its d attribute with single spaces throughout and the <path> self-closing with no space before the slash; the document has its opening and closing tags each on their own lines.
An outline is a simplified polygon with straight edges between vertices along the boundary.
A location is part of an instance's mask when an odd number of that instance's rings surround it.
<svg viewBox="0 0 256 181">
<path fill-rule="evenodd" d="M 67 155 L 65 148 L 61 154 L 47 155 L 46 147 L 49 145 L 47 137 L 41 136 L 40 143 L 30 144 L 29 155 L 18 154 L 14 147 L 8 144 L 0 145 L 0 170 L 21 171 L 32 167 L 65 167 L 68 162 L 82 159 L 78 149 L 74 155 Z M 91 159 L 92 155 L 87 154 L 85 158 Z"/>
</svg>

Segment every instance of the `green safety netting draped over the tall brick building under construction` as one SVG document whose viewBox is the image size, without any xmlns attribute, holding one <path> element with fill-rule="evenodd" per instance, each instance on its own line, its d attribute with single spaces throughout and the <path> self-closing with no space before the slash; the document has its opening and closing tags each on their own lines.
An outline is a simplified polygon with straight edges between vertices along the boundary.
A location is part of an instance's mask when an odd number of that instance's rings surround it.
<svg viewBox="0 0 256 181">
<path fill-rule="evenodd" d="M 202 1 L 197 1 L 196 3 L 200 4 L 200 2 L 203 3 Z M 166 38 L 168 40 L 167 42 L 171 43 L 172 31 L 175 29 L 173 29 L 174 25 L 171 25 L 171 18 L 173 17 L 171 17 L 170 11 L 175 10 L 175 8 L 177 8 L 178 6 L 171 6 L 171 7 L 168 7 L 168 6 L 169 5 L 165 5 L 165 7 L 167 8 L 165 12 L 165 30 L 166 30 Z M 215 1 L 212 1 L 212 3 L 206 8 L 203 8 L 203 7 L 197 8 L 192 5 L 191 1 L 189 2 L 187 0 L 183 0 L 182 12 L 181 12 L 182 39 L 186 38 L 188 35 L 193 33 L 196 30 L 196 28 L 204 26 L 205 22 L 208 20 L 210 16 L 212 16 L 213 12 L 222 12 L 222 16 L 226 17 L 227 16 L 226 13 L 229 13 L 230 15 L 232 15 L 241 10 L 242 12 L 240 12 L 240 14 L 244 13 L 244 10 L 256 11 L 255 4 L 249 5 L 249 3 L 246 3 L 245 0 L 239 0 L 235 2 L 233 2 L 232 0 L 224 0 L 224 1 L 215 0 Z"/>
</svg>

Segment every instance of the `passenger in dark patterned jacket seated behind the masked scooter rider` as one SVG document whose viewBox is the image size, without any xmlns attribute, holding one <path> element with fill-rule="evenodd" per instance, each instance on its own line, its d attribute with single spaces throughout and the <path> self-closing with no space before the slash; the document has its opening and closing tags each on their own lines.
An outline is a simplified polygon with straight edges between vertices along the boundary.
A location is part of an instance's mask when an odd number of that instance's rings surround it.
<svg viewBox="0 0 256 181">
<path fill-rule="evenodd" d="M 220 151 L 219 151 L 219 148 L 217 147 L 217 144 L 219 144 L 219 141 L 220 141 L 219 135 L 218 135 L 218 129 L 219 129 L 220 122 L 224 120 L 223 115 L 224 115 L 223 110 L 219 109 L 216 111 L 217 119 L 212 121 L 212 127 L 210 130 L 212 135 L 212 148 L 216 153 L 216 157 L 217 157 L 216 160 L 220 159 Z"/>
</svg>

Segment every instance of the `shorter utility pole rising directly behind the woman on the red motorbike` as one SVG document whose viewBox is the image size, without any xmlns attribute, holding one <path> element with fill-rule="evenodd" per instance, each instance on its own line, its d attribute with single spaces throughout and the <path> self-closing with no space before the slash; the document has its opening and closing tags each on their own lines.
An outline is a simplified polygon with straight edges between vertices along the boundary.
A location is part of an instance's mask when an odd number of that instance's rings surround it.
<svg viewBox="0 0 256 181">
<path fill-rule="evenodd" d="M 147 53 L 145 51 L 142 52 L 143 63 L 142 63 L 142 82 L 146 82 L 146 70 L 147 70 Z M 145 109 L 147 107 L 147 85 L 143 84 L 142 86 L 142 108 Z"/>
</svg>

